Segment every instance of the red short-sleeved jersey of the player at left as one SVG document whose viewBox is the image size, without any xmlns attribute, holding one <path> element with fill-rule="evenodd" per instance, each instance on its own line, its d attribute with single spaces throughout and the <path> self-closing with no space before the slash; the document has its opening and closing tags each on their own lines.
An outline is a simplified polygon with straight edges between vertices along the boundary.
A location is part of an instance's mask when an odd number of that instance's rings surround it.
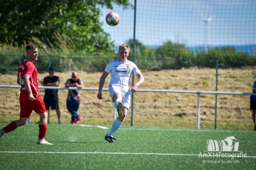
<svg viewBox="0 0 256 170">
<path fill-rule="evenodd" d="M 30 77 L 29 82 L 30 82 L 30 88 L 31 88 L 32 94 L 34 96 L 38 96 L 39 85 L 38 85 L 38 80 L 37 80 L 37 70 L 35 68 L 35 65 L 27 59 L 25 59 L 23 62 L 21 62 L 21 64 L 18 67 L 18 76 L 17 77 L 18 77 L 18 79 L 20 79 L 21 95 L 22 96 L 29 95 L 28 91 L 25 88 L 24 81 L 23 81 L 25 75 Z"/>
</svg>

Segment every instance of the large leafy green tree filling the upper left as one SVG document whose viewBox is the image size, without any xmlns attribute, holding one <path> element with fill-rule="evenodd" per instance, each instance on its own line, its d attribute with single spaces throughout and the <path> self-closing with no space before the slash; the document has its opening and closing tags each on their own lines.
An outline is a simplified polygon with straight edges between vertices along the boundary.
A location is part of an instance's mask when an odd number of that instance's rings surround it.
<svg viewBox="0 0 256 170">
<path fill-rule="evenodd" d="M 99 21 L 99 7 L 112 8 L 112 3 L 131 6 L 127 0 L 0 0 L 0 42 L 21 45 L 37 37 L 58 46 L 58 32 L 76 49 L 112 51 Z"/>
</svg>

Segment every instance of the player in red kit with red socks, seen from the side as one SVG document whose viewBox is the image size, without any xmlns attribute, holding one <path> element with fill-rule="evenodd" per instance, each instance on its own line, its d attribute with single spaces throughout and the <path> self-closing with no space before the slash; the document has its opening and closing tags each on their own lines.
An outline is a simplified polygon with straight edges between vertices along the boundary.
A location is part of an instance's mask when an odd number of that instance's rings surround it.
<svg viewBox="0 0 256 170">
<path fill-rule="evenodd" d="M 39 135 L 38 144 L 51 144 L 44 137 L 47 131 L 47 112 L 44 105 L 44 100 L 39 94 L 37 70 L 33 61 L 38 59 L 38 46 L 34 43 L 26 45 L 26 59 L 21 62 L 18 67 L 17 84 L 21 85 L 20 94 L 20 119 L 11 122 L 9 125 L 1 129 L 1 136 L 15 130 L 17 127 L 23 126 L 28 121 L 32 111 L 38 113 L 39 120 Z"/>
</svg>

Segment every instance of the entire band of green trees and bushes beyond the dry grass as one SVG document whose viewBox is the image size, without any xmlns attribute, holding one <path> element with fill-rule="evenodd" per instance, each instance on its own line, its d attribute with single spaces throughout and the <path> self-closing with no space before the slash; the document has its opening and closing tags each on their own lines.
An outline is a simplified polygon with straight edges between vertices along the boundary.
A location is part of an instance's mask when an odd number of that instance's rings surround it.
<svg viewBox="0 0 256 170">
<path fill-rule="evenodd" d="M 50 64 L 56 71 L 103 71 L 109 60 L 118 57 L 114 43 L 99 21 L 99 6 L 111 9 L 112 3 L 133 8 L 129 0 L 2 0 L 0 73 L 17 70 L 26 57 L 24 45 L 27 42 L 37 43 L 43 51 L 35 62 L 38 71 L 47 71 Z M 185 48 L 185 44 L 171 41 L 164 42 L 159 48 L 149 48 L 138 40 L 135 42 L 135 62 L 146 70 L 215 68 L 216 60 L 219 60 L 220 68 L 256 65 L 255 55 L 233 47 L 209 48 L 194 53 Z M 133 40 L 127 40 L 127 43 L 131 47 L 129 60 L 132 61 Z"/>
</svg>

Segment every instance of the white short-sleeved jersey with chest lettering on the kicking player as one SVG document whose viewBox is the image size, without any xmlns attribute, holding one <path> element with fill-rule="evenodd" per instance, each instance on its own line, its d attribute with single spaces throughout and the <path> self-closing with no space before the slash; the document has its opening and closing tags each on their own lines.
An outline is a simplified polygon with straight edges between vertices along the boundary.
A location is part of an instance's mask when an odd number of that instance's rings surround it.
<svg viewBox="0 0 256 170">
<path fill-rule="evenodd" d="M 124 89 L 129 89 L 129 79 L 132 75 L 132 71 L 134 74 L 141 72 L 134 62 L 129 60 L 121 62 L 118 59 L 110 61 L 106 66 L 105 71 L 111 73 L 109 85 L 117 85 Z"/>
</svg>

